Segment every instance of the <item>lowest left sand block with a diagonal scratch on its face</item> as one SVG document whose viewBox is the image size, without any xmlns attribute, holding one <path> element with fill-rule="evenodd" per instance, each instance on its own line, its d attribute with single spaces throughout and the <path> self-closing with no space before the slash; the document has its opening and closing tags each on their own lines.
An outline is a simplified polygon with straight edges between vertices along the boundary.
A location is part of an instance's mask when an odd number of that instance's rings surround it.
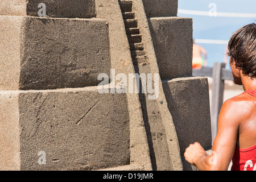
<svg viewBox="0 0 256 182">
<path fill-rule="evenodd" d="M 0 100 L 1 170 L 94 170 L 130 164 L 125 94 L 100 94 L 93 86 L 0 91 Z"/>
</svg>

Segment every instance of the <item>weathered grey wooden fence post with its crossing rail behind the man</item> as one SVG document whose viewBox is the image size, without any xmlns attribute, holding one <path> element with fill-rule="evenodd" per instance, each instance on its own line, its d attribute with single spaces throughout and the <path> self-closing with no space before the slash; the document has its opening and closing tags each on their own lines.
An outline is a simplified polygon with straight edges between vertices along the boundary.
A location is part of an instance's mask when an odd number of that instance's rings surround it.
<svg viewBox="0 0 256 182">
<path fill-rule="evenodd" d="M 218 114 L 223 103 L 224 81 L 233 80 L 232 72 L 225 69 L 225 63 L 214 63 L 214 67 L 202 67 L 193 69 L 193 76 L 212 77 L 212 101 L 210 109 L 210 118 L 212 123 L 212 141 L 217 134 Z"/>
</svg>

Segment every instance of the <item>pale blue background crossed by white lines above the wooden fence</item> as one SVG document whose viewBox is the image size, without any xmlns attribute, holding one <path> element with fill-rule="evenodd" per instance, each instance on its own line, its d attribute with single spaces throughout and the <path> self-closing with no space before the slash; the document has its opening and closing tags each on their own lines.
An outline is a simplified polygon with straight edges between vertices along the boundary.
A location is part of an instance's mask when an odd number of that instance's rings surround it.
<svg viewBox="0 0 256 182">
<path fill-rule="evenodd" d="M 178 2 L 177 16 L 193 19 L 193 38 L 196 40 L 228 41 L 238 28 L 249 23 L 256 23 L 255 0 L 178 0 Z M 214 5 L 211 3 L 214 3 Z M 188 10 L 195 12 L 189 13 Z M 216 10 L 217 16 L 199 15 L 200 12 L 208 13 L 209 11 L 214 12 L 214 10 Z M 229 14 L 226 15 L 227 13 Z M 246 17 L 241 18 L 241 16 Z M 224 61 L 225 43 L 199 42 L 198 44 L 208 52 L 209 67 L 212 67 L 214 62 Z"/>
</svg>

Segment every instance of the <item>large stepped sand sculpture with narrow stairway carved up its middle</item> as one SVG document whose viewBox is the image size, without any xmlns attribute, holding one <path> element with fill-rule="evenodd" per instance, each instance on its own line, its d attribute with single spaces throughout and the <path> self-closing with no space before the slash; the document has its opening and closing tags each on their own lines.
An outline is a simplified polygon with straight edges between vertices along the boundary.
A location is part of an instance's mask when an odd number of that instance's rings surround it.
<svg viewBox="0 0 256 182">
<path fill-rule="evenodd" d="M 185 148 L 210 148 L 177 0 L 2 0 L 0 15 L 1 170 L 194 170 Z"/>
</svg>

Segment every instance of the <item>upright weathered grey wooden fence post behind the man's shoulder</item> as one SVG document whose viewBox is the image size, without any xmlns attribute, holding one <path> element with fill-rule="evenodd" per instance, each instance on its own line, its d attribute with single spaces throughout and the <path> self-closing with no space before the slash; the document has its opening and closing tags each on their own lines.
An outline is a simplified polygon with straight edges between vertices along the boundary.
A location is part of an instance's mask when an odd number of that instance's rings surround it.
<svg viewBox="0 0 256 182">
<path fill-rule="evenodd" d="M 225 65 L 225 63 L 214 63 L 212 72 L 212 108 L 210 113 L 212 120 L 212 142 L 217 134 L 218 114 L 220 113 L 220 109 L 223 104 L 224 80 L 222 80 L 221 73 L 222 68 L 225 68 Z"/>
</svg>

